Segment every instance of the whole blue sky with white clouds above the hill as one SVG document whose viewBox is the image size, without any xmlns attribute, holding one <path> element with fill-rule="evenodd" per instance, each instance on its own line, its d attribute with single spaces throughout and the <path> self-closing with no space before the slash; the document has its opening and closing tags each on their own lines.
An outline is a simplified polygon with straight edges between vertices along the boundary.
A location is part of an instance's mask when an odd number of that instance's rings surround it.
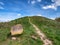
<svg viewBox="0 0 60 45">
<path fill-rule="evenodd" d="M 0 0 L 0 22 L 34 15 L 60 17 L 60 0 Z"/>
</svg>

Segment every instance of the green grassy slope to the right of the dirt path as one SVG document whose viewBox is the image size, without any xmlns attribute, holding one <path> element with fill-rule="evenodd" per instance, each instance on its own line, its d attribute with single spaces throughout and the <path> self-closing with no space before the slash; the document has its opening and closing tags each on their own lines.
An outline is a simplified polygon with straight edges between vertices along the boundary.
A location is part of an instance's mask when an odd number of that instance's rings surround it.
<svg viewBox="0 0 60 45">
<path fill-rule="evenodd" d="M 60 45 L 60 23 L 43 17 L 30 17 L 45 35 L 53 42 L 53 45 Z M 33 19 L 32 19 L 33 18 Z"/>
</svg>

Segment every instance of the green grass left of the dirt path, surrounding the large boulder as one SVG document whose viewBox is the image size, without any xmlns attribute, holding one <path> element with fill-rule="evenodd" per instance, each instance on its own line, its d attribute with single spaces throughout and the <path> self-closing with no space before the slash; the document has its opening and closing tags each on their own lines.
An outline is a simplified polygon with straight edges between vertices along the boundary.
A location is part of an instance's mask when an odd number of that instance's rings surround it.
<svg viewBox="0 0 60 45">
<path fill-rule="evenodd" d="M 10 33 L 10 28 L 13 25 L 22 24 L 24 32 L 22 35 L 17 37 L 17 40 L 11 40 L 8 38 L 8 34 Z M 42 41 L 39 39 L 39 36 L 35 33 L 35 29 L 30 25 L 28 18 L 20 18 L 13 20 L 8 23 L 0 24 L 0 45 L 42 45 Z M 34 40 L 31 38 L 32 35 L 35 35 L 38 39 Z"/>
</svg>

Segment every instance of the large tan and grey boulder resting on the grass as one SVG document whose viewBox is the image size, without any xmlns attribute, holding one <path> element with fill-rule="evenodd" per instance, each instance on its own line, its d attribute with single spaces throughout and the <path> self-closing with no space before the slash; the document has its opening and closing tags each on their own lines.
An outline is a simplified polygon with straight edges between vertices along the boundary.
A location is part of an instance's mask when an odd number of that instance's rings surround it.
<svg viewBox="0 0 60 45">
<path fill-rule="evenodd" d="M 23 33 L 23 27 L 21 24 L 17 24 L 11 27 L 11 35 L 18 35 Z"/>
</svg>

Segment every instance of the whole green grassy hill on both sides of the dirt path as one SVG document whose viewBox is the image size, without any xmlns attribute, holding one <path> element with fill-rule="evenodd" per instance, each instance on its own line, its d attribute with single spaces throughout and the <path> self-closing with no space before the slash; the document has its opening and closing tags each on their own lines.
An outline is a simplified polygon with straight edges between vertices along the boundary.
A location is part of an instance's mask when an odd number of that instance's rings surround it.
<svg viewBox="0 0 60 45">
<path fill-rule="evenodd" d="M 53 45 L 60 45 L 60 22 L 39 16 L 32 16 L 30 19 L 53 42 Z M 16 24 L 22 24 L 24 32 L 18 36 L 17 40 L 11 40 L 9 38 L 10 29 Z M 38 39 L 31 38 L 32 35 Z M 29 23 L 28 17 L 23 17 L 0 23 L 0 45 L 43 45 L 43 42 L 36 34 L 34 27 Z"/>
</svg>

